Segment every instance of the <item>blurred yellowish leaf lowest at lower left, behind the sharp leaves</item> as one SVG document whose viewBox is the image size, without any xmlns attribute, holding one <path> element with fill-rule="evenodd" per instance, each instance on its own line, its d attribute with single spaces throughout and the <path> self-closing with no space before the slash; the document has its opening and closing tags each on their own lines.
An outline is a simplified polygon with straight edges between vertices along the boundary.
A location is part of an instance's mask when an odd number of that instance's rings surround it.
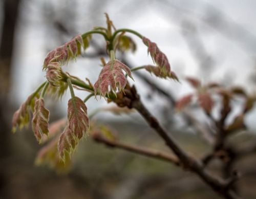
<svg viewBox="0 0 256 199">
<path fill-rule="evenodd" d="M 65 157 L 65 161 L 61 161 L 57 145 L 58 139 L 56 138 L 42 147 L 36 155 L 35 164 L 37 166 L 47 165 L 58 173 L 68 172 L 72 162 L 68 156 Z"/>
</svg>

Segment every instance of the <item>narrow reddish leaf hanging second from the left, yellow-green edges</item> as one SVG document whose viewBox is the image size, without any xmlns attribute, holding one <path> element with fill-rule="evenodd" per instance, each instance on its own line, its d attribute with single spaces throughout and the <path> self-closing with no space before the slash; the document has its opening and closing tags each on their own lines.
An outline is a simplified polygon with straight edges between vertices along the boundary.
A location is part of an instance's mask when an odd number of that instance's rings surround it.
<svg viewBox="0 0 256 199">
<path fill-rule="evenodd" d="M 49 116 L 50 112 L 45 108 L 44 99 L 40 98 L 35 101 L 35 112 L 32 119 L 32 129 L 37 141 L 41 142 L 42 135 L 49 134 Z"/>
</svg>

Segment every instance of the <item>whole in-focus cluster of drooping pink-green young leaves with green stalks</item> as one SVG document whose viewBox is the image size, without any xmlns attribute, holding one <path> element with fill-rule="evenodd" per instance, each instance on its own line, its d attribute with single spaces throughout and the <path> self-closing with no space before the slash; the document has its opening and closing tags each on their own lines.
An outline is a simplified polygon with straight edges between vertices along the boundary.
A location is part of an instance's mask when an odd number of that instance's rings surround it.
<svg viewBox="0 0 256 199">
<path fill-rule="evenodd" d="M 13 116 L 13 131 L 16 131 L 17 127 L 22 129 L 28 125 L 31 110 L 33 113 L 32 128 L 36 139 L 39 143 L 45 143 L 47 138 L 51 139 L 51 142 L 45 145 L 38 153 L 37 163 L 49 162 L 50 164 L 52 161 L 52 166 L 62 167 L 63 164 L 59 163 L 61 162 L 60 160 L 67 163 L 67 154 L 70 155 L 75 150 L 79 140 L 88 136 L 90 121 L 87 115 L 87 106 L 83 100 L 75 96 L 73 84 L 94 93 L 95 96 L 100 95 L 100 97 L 103 96 L 104 98 L 115 98 L 116 95 L 113 94 L 116 94 L 117 91 L 124 91 L 127 83 L 126 76 L 133 79 L 129 67 L 115 57 L 116 51 L 123 53 L 127 50 L 131 50 L 132 52 L 136 50 L 136 45 L 132 38 L 124 35 L 126 31 L 134 33 L 142 39 L 143 43 L 148 47 L 147 50 L 153 62 L 156 63 L 156 66 L 145 65 L 144 67 L 139 67 L 140 69 L 145 69 L 161 78 L 169 77 L 178 80 L 175 73 L 170 70 L 170 64 L 166 55 L 159 50 L 156 43 L 133 30 L 116 30 L 107 14 L 106 18 L 108 28 L 96 27 L 90 32 L 77 35 L 72 40 L 47 54 L 43 65 L 43 70 L 46 71 L 47 82 L 42 84 L 30 95 Z M 113 34 L 112 28 L 115 30 Z M 110 58 L 110 61 L 107 63 L 102 61 L 104 63 L 103 68 L 94 86 L 88 79 L 89 84 L 86 84 L 77 77 L 63 72 L 61 69 L 63 64 L 66 64 L 69 60 L 75 59 L 81 54 L 82 48 L 86 49 L 89 46 L 89 41 L 93 33 L 99 33 L 104 36 L 107 43 L 106 51 Z M 126 76 L 123 72 L 126 73 Z M 57 122 L 54 125 L 49 125 L 50 112 L 45 107 L 44 95 L 45 93 L 56 94 L 57 98 L 59 98 L 68 87 L 71 92 L 71 99 L 68 102 L 68 119 L 65 122 Z M 109 131 L 105 128 L 99 129 L 98 132 L 102 132 L 102 135 L 109 135 Z"/>
</svg>

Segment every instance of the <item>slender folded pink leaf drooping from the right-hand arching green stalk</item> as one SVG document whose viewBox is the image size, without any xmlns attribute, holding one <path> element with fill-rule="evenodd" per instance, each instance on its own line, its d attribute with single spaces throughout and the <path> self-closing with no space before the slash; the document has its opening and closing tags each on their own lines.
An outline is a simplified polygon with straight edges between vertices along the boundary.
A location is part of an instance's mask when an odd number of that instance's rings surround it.
<svg viewBox="0 0 256 199">
<path fill-rule="evenodd" d="M 148 47 L 147 52 L 150 53 L 153 61 L 157 64 L 160 71 L 165 75 L 170 74 L 170 64 L 168 62 L 168 59 L 166 55 L 159 50 L 156 43 L 152 42 L 146 37 L 143 37 L 142 41 Z"/>
</svg>

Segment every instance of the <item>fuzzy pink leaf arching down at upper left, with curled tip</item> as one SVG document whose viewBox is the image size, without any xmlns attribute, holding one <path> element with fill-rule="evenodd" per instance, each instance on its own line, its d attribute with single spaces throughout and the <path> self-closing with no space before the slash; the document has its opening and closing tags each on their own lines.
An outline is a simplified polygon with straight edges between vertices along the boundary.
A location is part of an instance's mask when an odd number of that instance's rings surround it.
<svg viewBox="0 0 256 199">
<path fill-rule="evenodd" d="M 65 64 L 70 58 L 75 58 L 78 52 L 77 44 L 83 46 L 81 35 L 77 35 L 71 41 L 65 43 L 51 52 L 45 58 L 43 70 L 47 70 L 46 78 L 53 86 L 59 85 L 59 80 L 62 78 L 60 66 Z"/>
</svg>

